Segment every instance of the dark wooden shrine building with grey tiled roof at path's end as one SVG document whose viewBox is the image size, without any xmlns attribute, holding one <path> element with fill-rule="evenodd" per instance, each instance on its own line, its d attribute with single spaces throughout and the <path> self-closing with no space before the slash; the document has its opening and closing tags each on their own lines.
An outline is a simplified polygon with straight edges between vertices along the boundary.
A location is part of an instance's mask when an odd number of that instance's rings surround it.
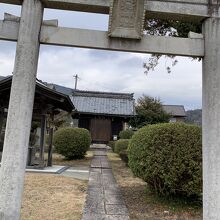
<svg viewBox="0 0 220 220">
<path fill-rule="evenodd" d="M 107 143 L 134 117 L 133 94 L 75 90 L 71 97 L 78 127 L 91 132 L 96 143 Z"/>
</svg>

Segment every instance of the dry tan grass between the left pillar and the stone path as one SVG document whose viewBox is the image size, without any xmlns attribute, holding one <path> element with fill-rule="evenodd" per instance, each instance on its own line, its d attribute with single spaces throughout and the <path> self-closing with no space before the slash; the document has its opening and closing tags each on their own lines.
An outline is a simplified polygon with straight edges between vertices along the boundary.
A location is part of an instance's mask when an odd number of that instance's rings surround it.
<svg viewBox="0 0 220 220">
<path fill-rule="evenodd" d="M 81 220 L 87 181 L 26 174 L 22 220 Z"/>
</svg>

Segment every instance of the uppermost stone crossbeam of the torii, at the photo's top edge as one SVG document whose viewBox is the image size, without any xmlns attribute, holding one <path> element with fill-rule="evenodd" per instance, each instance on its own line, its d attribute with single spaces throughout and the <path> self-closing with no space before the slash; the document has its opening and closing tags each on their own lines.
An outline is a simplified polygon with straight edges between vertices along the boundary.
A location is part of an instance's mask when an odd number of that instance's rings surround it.
<svg viewBox="0 0 220 220">
<path fill-rule="evenodd" d="M 46 8 L 91 13 L 109 14 L 111 0 L 42 0 Z M 20 0 L 0 0 L 2 3 L 20 5 Z M 211 3 L 211 5 L 209 4 Z M 213 0 L 145 0 L 145 10 L 149 17 L 172 19 L 203 20 L 210 17 Z"/>
</svg>

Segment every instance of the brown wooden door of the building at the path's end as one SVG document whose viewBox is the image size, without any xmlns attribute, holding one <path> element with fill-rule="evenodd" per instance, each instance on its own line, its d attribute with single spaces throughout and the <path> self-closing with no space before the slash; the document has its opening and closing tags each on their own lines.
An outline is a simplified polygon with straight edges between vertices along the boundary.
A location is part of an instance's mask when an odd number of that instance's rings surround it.
<svg viewBox="0 0 220 220">
<path fill-rule="evenodd" d="M 108 142 L 111 140 L 111 120 L 93 118 L 90 127 L 94 142 Z"/>
</svg>

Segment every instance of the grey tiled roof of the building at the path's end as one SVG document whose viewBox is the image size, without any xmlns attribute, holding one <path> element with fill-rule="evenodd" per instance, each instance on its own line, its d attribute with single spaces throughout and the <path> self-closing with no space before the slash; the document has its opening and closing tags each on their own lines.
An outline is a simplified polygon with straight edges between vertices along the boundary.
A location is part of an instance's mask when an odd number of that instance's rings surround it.
<svg viewBox="0 0 220 220">
<path fill-rule="evenodd" d="M 71 99 L 79 113 L 134 115 L 133 94 L 78 90 L 73 93 Z"/>
</svg>

